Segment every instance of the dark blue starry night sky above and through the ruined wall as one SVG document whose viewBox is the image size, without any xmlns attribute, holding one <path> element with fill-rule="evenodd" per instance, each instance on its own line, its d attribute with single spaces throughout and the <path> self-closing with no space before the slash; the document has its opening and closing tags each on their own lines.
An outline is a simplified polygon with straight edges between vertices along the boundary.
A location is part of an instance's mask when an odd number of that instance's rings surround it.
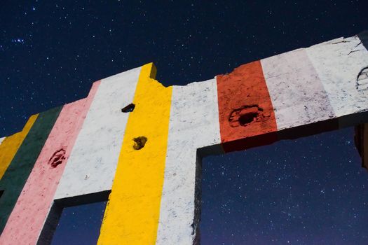
<svg viewBox="0 0 368 245">
<path fill-rule="evenodd" d="M 100 78 L 154 62 L 165 85 L 206 80 L 353 36 L 368 29 L 367 9 L 367 0 L 1 1 L 0 136 L 86 97 Z M 368 173 L 352 139 L 350 128 L 205 158 L 202 243 L 367 244 Z M 81 223 L 95 224 L 93 210 L 79 208 Z"/>
</svg>

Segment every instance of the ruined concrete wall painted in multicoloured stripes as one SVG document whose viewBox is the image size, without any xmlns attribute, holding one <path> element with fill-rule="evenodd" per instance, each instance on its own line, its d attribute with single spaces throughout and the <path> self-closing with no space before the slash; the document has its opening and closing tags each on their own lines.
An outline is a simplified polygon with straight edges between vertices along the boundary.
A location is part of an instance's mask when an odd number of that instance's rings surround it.
<svg viewBox="0 0 368 245">
<path fill-rule="evenodd" d="M 0 139 L 0 244 L 48 244 L 63 207 L 102 200 L 98 244 L 196 244 L 201 158 L 367 123 L 367 48 L 337 38 L 185 86 L 146 64 L 31 116 Z"/>
</svg>

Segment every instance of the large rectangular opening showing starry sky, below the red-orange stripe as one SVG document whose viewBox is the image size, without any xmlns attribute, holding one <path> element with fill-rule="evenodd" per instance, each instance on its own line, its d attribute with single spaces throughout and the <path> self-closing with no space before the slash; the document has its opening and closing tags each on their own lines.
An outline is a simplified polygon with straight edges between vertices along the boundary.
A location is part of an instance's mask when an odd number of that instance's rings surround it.
<svg viewBox="0 0 368 245">
<path fill-rule="evenodd" d="M 201 244 L 367 244 L 353 129 L 203 158 Z"/>
</svg>

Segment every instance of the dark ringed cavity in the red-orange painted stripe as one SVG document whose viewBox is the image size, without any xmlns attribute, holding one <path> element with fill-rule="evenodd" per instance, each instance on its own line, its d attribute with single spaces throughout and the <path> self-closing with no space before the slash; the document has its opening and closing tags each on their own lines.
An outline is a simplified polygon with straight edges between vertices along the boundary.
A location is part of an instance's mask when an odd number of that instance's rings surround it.
<svg viewBox="0 0 368 245">
<path fill-rule="evenodd" d="M 229 116 L 229 123 L 231 127 L 247 126 L 254 121 L 263 117 L 261 113 L 264 110 L 258 105 L 242 106 L 231 111 Z"/>
</svg>

